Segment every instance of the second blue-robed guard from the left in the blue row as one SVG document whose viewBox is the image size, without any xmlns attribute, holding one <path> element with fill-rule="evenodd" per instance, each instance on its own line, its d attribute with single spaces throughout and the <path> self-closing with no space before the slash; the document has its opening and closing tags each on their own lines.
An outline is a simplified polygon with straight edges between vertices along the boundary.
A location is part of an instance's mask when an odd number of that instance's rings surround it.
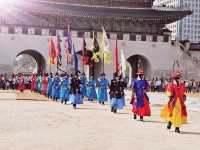
<svg viewBox="0 0 200 150">
<path fill-rule="evenodd" d="M 60 80 L 60 76 L 58 74 L 58 72 L 55 74 L 55 77 L 53 79 L 53 84 L 52 84 L 52 98 L 53 101 L 57 101 L 59 99 L 60 96 L 60 84 L 61 84 L 61 80 Z"/>
</svg>

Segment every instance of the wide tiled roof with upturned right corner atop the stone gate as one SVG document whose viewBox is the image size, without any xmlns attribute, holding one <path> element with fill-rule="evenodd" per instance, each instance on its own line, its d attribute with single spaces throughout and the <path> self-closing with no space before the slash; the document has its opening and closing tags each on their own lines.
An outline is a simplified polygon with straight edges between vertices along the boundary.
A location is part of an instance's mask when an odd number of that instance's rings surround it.
<svg viewBox="0 0 200 150">
<path fill-rule="evenodd" d="M 111 19 L 128 20 L 130 22 L 157 22 L 167 24 L 177 21 L 191 14 L 188 9 L 180 8 L 127 8 L 127 7 L 106 7 L 94 5 L 80 5 L 55 3 L 46 1 L 27 0 L 23 3 L 14 4 L 9 11 L 1 11 L 0 24 L 27 25 L 27 26 L 56 26 L 56 16 L 58 22 L 62 22 L 64 17 L 80 17 L 90 19 Z M 61 16 L 59 18 L 59 16 Z M 47 19 L 49 17 L 49 19 Z M 53 20 L 53 21 L 51 21 Z M 63 21 L 64 22 L 64 21 Z"/>
</svg>

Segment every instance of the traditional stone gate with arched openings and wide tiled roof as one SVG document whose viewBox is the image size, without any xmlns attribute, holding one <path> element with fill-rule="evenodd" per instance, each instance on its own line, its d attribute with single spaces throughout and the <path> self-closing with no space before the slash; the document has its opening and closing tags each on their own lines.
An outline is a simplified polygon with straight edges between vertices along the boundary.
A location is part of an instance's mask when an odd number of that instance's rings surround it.
<svg viewBox="0 0 200 150">
<path fill-rule="evenodd" d="M 104 26 L 109 38 L 111 63 L 105 73 L 115 71 L 113 51 L 116 39 L 118 49 L 124 51 L 129 64 L 130 79 L 135 76 L 138 62 L 146 77 L 169 76 L 174 60 L 181 64 L 185 78 L 200 78 L 200 71 L 181 43 L 172 43 L 171 32 L 164 28 L 191 14 L 186 8 L 152 7 L 153 0 L 20 0 L 2 9 L 0 14 L 0 64 L 12 66 L 21 54 L 32 56 L 38 71 L 50 71 L 48 65 L 48 37 L 67 38 L 70 27 L 75 48 L 82 49 L 83 37 L 87 48 L 92 43 L 93 31 L 99 41 Z M 62 42 L 62 49 L 64 49 Z M 182 45 L 183 46 L 183 45 Z M 184 47 L 184 46 L 183 46 Z M 62 54 L 64 56 L 64 50 Z M 56 66 L 52 66 L 56 71 Z M 63 59 L 63 68 L 67 68 Z M 80 71 L 83 68 L 80 66 Z M 85 71 L 102 73 L 102 62 L 87 66 Z"/>
</svg>

